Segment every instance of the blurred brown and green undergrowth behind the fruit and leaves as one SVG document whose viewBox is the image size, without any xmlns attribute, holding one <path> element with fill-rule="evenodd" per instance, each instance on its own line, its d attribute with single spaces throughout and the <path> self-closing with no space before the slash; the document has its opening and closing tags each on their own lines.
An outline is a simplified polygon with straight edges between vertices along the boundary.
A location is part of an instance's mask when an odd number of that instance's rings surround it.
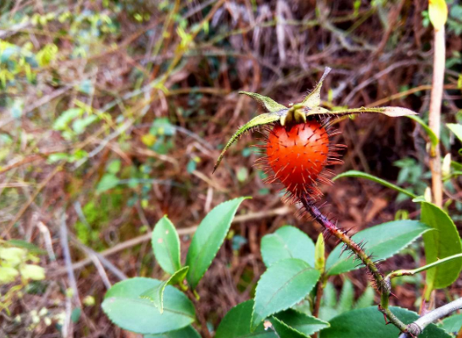
<svg viewBox="0 0 462 338">
<path fill-rule="evenodd" d="M 462 4 L 448 3 L 442 124 L 462 121 Z M 316 238 L 319 226 L 293 216 L 252 166 L 258 133 L 211 175 L 224 142 L 259 112 L 238 90 L 289 104 L 329 66 L 325 107 L 400 105 L 427 119 L 432 31 L 423 0 L 4 0 L 0 13 L 0 268 L 11 277 L 0 279 L 2 336 L 124 336 L 102 314 L 102 295 L 126 276 L 163 277 L 148 235 L 164 214 L 186 245 L 214 205 L 253 197 L 198 288 L 212 331 L 253 295 L 263 235 L 293 224 Z M 424 193 L 419 124 L 360 116 L 338 127 L 334 143 L 348 151 L 336 172 L 361 170 Z M 460 162 L 446 128 L 442 143 Z M 344 227 L 416 216 L 405 196 L 371 182 L 322 188 Z M 446 189 L 457 216 L 460 183 L 447 180 Z M 412 267 L 421 254 L 385 264 Z M 415 309 L 421 282 L 398 285 L 394 302 Z M 371 302 L 358 271 L 349 284 L 329 283 L 326 318 Z"/>
</svg>

